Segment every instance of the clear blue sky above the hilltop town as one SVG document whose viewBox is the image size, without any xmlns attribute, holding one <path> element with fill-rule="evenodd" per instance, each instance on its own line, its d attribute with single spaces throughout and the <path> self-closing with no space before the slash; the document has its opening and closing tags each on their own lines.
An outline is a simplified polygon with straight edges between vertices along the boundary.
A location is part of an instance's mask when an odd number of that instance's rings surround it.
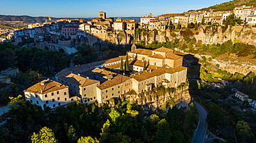
<svg viewBox="0 0 256 143">
<path fill-rule="evenodd" d="M 0 14 L 33 17 L 141 17 L 185 12 L 227 2 L 226 0 L 0 0 Z"/>
</svg>

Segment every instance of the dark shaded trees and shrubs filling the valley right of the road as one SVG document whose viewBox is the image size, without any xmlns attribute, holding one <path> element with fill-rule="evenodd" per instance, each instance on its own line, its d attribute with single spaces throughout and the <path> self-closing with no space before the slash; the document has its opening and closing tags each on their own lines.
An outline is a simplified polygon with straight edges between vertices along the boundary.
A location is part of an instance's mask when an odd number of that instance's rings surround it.
<svg viewBox="0 0 256 143">
<path fill-rule="evenodd" d="M 212 133 L 228 142 L 255 142 L 256 113 L 248 108 L 248 102 L 240 104 L 230 98 L 230 94 L 235 94 L 231 89 L 190 81 L 190 94 L 208 110 L 208 129 Z"/>
</svg>

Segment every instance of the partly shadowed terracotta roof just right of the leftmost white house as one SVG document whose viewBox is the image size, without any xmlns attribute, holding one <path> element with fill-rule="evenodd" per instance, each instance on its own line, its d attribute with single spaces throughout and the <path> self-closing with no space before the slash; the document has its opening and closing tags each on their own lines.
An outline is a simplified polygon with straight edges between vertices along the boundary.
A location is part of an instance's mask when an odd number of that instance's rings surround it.
<svg viewBox="0 0 256 143">
<path fill-rule="evenodd" d="M 71 82 L 75 85 L 79 85 L 80 87 L 86 87 L 88 85 L 93 85 L 95 83 L 100 83 L 98 80 L 92 80 L 92 79 L 87 79 L 82 76 L 78 76 L 76 74 L 68 74 L 68 76 L 65 77 L 65 80 L 68 82 Z"/>
</svg>

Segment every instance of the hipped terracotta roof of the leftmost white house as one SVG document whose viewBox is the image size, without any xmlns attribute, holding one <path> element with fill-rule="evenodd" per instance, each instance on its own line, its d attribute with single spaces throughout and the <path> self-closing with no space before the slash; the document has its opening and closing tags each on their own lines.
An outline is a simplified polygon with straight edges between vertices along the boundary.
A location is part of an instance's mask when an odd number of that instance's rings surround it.
<svg viewBox="0 0 256 143">
<path fill-rule="evenodd" d="M 32 87 L 29 87 L 28 89 L 24 90 L 24 92 L 30 92 L 35 94 L 47 94 L 49 92 L 57 91 L 60 89 L 66 89 L 68 86 L 62 85 L 61 83 L 57 83 L 57 81 L 49 80 L 44 85 L 41 85 L 41 83 L 37 83 L 33 85 Z M 42 89 L 42 93 L 41 93 Z"/>
</svg>

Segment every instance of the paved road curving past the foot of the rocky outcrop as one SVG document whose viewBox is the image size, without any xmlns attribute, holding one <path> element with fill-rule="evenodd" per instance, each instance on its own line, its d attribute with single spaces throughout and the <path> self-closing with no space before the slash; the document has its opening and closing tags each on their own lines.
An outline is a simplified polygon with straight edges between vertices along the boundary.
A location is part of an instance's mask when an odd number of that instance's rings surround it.
<svg viewBox="0 0 256 143">
<path fill-rule="evenodd" d="M 196 130 L 196 133 L 194 134 L 192 143 L 203 143 L 207 131 L 207 112 L 198 102 L 193 103 L 196 105 L 196 108 L 199 111 L 199 126 L 198 129 Z"/>
</svg>

